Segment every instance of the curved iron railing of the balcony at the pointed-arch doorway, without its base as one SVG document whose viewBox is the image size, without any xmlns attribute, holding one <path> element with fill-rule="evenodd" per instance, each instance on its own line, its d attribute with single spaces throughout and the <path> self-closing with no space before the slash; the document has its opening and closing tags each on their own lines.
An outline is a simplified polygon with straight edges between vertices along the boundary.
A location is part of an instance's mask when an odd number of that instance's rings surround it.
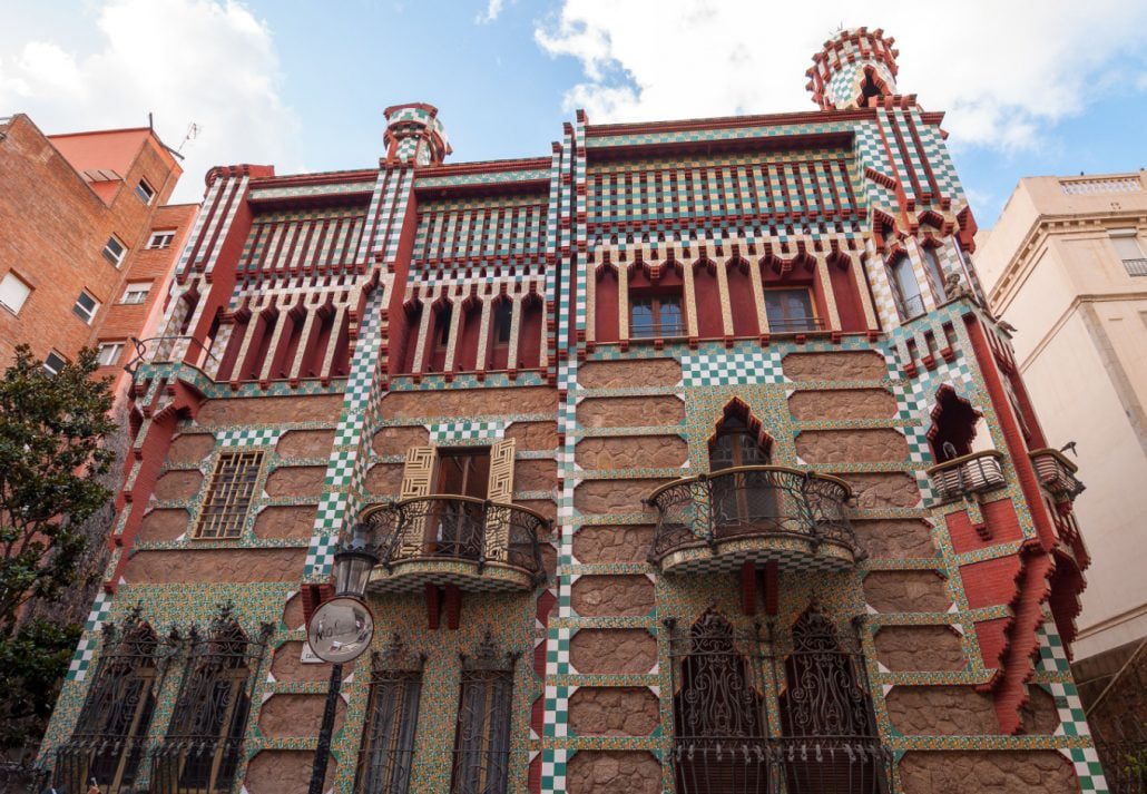
<svg viewBox="0 0 1147 794">
<path fill-rule="evenodd" d="M 782 466 L 738 466 L 674 480 L 655 490 L 657 508 L 649 559 L 744 537 L 791 537 L 859 552 L 845 503 L 849 485 L 836 477 Z"/>
</svg>

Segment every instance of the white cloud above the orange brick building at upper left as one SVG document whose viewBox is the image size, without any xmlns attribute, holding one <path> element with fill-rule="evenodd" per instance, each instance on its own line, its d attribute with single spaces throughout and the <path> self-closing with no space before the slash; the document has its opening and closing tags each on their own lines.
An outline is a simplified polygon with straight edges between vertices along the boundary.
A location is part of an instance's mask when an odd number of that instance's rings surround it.
<svg viewBox="0 0 1147 794">
<path fill-rule="evenodd" d="M 302 170 L 299 124 L 279 91 L 266 24 L 234 0 L 103 0 L 85 26 L 87 50 L 32 40 L 0 52 L 0 114 L 26 112 L 47 133 L 143 126 L 184 146 L 173 201 L 198 201 L 213 165 L 273 163 Z"/>
</svg>

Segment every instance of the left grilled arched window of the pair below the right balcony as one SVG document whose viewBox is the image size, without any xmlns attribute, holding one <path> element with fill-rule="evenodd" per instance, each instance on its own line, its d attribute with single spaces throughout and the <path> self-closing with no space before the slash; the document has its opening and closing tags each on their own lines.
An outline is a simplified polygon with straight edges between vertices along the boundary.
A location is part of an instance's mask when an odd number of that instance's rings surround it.
<svg viewBox="0 0 1147 794">
<path fill-rule="evenodd" d="M 768 717 L 757 651 L 755 636 L 739 636 L 713 610 L 670 635 L 672 762 L 680 794 L 768 791 Z"/>
</svg>

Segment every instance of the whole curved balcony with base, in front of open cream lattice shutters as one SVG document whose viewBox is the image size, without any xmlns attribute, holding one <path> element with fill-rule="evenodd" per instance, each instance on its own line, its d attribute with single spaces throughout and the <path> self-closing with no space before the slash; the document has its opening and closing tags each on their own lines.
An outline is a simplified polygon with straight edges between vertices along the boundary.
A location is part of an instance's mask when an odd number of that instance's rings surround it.
<svg viewBox="0 0 1147 794">
<path fill-rule="evenodd" d="M 545 581 L 540 532 L 549 521 L 533 511 L 474 497 L 434 495 L 383 506 L 375 592 L 412 592 L 454 584 L 470 592 L 532 590 Z"/>
</svg>

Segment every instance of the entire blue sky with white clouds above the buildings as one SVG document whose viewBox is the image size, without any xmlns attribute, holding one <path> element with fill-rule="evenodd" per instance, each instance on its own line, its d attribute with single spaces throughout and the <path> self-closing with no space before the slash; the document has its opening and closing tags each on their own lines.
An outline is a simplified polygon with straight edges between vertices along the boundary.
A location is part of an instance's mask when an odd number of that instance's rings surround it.
<svg viewBox="0 0 1147 794">
<path fill-rule="evenodd" d="M 372 168 L 382 111 L 439 108 L 448 162 L 547 156 L 591 123 L 811 110 L 811 56 L 883 28 L 899 92 L 944 129 L 981 226 L 1021 177 L 1147 166 L 1147 2 L 0 0 L 0 116 L 142 126 L 217 164 Z M 197 133 L 187 139 L 194 124 Z M 186 139 L 186 140 L 185 140 Z"/>
</svg>

